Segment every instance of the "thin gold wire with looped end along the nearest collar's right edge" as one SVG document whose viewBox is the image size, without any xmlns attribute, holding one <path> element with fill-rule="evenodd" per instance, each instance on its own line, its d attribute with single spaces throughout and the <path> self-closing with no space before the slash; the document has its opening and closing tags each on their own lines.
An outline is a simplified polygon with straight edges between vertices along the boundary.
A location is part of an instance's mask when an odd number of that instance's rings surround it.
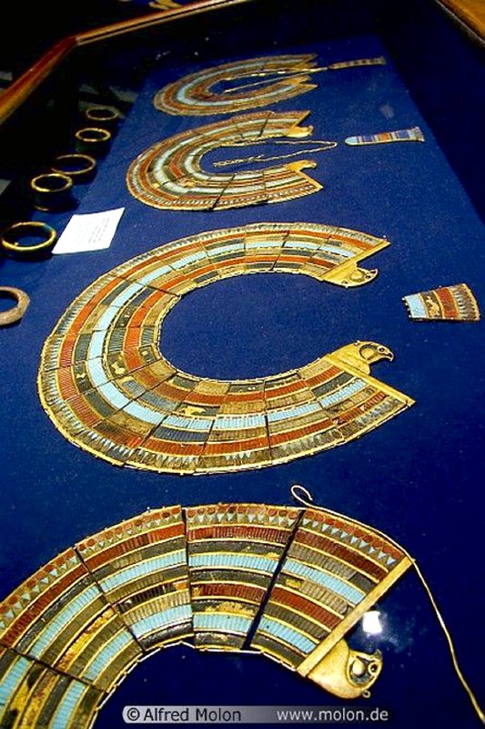
<svg viewBox="0 0 485 729">
<path fill-rule="evenodd" d="M 303 491 L 303 493 L 305 494 L 306 498 L 303 498 L 303 497 L 299 496 L 298 490 Z M 303 506 L 305 506 L 305 507 L 308 507 L 308 508 L 316 508 L 319 511 L 326 511 L 328 514 L 331 514 L 332 516 L 341 517 L 342 519 L 349 519 L 349 517 L 347 517 L 345 514 L 341 514 L 339 511 L 333 511 L 332 509 L 329 509 L 329 508 L 323 508 L 323 507 L 316 506 L 315 503 L 314 503 L 314 501 L 313 501 L 313 497 L 312 497 L 311 493 L 308 491 L 308 488 L 305 488 L 304 486 L 301 486 L 300 484 L 294 484 L 290 488 L 290 492 L 291 492 L 291 496 L 296 501 L 298 501 L 300 504 L 303 504 Z M 358 521 L 358 519 L 351 519 L 351 520 L 353 522 L 355 522 L 356 524 L 359 524 L 362 527 L 367 527 L 368 526 L 367 524 L 364 524 L 363 522 Z M 411 563 L 412 563 L 412 565 L 413 565 L 414 569 L 416 570 L 416 573 L 417 573 L 417 575 L 419 577 L 419 580 L 421 580 L 422 585 L 424 587 L 424 590 L 426 591 L 426 594 L 428 595 L 429 602 L 431 603 L 431 607 L 432 607 L 433 611 L 435 612 L 436 617 L 438 618 L 438 622 L 440 623 L 441 630 L 445 634 L 445 638 L 447 640 L 448 648 L 449 648 L 449 651 L 450 651 L 451 662 L 453 664 L 453 668 L 455 670 L 455 673 L 457 674 L 458 679 L 459 679 L 461 685 L 463 686 L 465 692 L 468 694 L 468 697 L 470 699 L 471 705 L 473 706 L 476 714 L 478 715 L 481 724 L 485 724 L 485 714 L 483 713 L 483 711 L 482 711 L 482 709 L 480 707 L 480 703 L 478 702 L 477 697 L 475 696 L 475 694 L 471 690 L 469 683 L 465 679 L 463 673 L 461 673 L 460 665 L 459 665 L 459 662 L 458 662 L 458 658 L 457 658 L 455 646 L 453 644 L 453 640 L 451 638 L 450 631 L 448 630 L 448 627 L 447 627 L 447 625 L 446 625 L 446 623 L 444 621 L 444 618 L 443 618 L 443 616 L 440 613 L 440 609 L 439 609 L 438 605 L 436 604 L 436 600 L 433 597 L 433 593 L 431 592 L 431 589 L 429 587 L 429 584 L 425 580 L 425 577 L 424 577 L 423 573 L 421 572 L 421 570 L 418 567 L 417 561 L 413 557 L 411 557 L 411 555 L 409 554 L 409 551 L 407 549 L 404 549 L 404 547 L 402 547 L 400 544 L 398 544 L 398 542 L 394 541 L 394 539 L 390 539 L 387 534 L 384 534 L 384 532 L 379 531 L 379 529 L 374 529 L 373 527 L 372 527 L 372 529 L 377 534 L 379 534 L 381 537 L 385 537 L 386 539 L 389 539 L 389 541 L 392 541 L 397 547 L 399 547 L 399 549 L 402 552 L 404 552 L 404 554 L 406 555 L 406 557 L 411 561 Z"/>
</svg>

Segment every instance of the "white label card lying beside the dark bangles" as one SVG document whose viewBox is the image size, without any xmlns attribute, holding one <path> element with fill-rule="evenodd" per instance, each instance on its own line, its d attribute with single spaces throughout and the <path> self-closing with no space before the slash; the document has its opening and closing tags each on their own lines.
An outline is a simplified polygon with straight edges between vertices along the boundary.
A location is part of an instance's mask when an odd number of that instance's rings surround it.
<svg viewBox="0 0 485 729">
<path fill-rule="evenodd" d="M 81 253 L 109 248 L 125 208 L 73 215 L 53 253 Z"/>
</svg>

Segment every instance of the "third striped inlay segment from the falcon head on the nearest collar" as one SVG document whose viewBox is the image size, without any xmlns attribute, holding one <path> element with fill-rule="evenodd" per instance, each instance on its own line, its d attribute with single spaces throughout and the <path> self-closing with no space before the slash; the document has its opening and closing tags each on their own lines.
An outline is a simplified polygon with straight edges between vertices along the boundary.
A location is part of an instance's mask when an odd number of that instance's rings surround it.
<svg viewBox="0 0 485 729">
<path fill-rule="evenodd" d="M 76 545 L 99 588 L 143 648 L 192 634 L 181 509 L 150 511 Z"/>
</svg>

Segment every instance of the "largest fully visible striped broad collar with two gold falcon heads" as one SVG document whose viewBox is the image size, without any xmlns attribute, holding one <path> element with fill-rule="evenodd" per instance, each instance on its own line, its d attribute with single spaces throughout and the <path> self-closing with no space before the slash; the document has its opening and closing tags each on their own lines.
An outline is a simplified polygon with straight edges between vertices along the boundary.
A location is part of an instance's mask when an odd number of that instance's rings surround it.
<svg viewBox="0 0 485 729">
<path fill-rule="evenodd" d="M 302 273 L 354 287 L 359 262 L 389 245 L 310 223 L 211 231 L 143 253 L 81 293 L 45 342 L 41 401 L 77 446 L 118 466 L 212 473 L 268 466 L 347 443 L 412 400 L 370 376 L 384 346 L 348 344 L 279 375 L 214 380 L 159 351 L 181 296 L 230 276 Z M 350 294 L 349 294 L 350 295 Z"/>
</svg>

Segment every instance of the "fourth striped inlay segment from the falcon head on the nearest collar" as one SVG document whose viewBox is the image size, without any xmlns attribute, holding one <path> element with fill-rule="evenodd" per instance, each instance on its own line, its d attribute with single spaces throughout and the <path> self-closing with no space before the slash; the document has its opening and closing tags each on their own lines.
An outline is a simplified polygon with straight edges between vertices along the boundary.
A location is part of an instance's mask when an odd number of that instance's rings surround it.
<svg viewBox="0 0 485 729">
<path fill-rule="evenodd" d="M 0 644 L 83 681 L 97 660 L 92 682 L 104 690 L 116 681 L 120 667 L 141 655 L 75 549 L 35 572 L 3 603 Z M 99 644 L 106 644 L 102 655 L 97 655 Z"/>
</svg>

